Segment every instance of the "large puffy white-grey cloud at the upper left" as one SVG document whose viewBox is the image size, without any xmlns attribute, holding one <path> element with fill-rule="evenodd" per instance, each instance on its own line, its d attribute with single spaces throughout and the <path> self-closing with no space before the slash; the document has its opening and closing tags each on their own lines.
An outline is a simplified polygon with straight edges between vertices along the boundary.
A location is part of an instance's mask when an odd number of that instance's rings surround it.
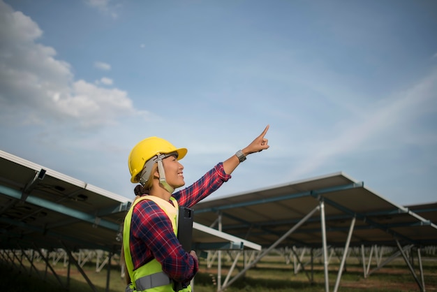
<svg viewBox="0 0 437 292">
<path fill-rule="evenodd" d="M 0 124 L 88 128 L 135 113 L 126 92 L 74 80 L 70 64 L 36 42 L 42 34 L 38 24 L 0 1 Z M 110 78 L 101 82 L 112 84 Z"/>
</svg>

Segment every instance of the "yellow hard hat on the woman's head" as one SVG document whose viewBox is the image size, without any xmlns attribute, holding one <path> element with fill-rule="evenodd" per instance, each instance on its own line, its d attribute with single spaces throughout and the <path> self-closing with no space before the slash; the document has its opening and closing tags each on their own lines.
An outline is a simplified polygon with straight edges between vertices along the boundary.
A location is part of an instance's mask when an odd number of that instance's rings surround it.
<svg viewBox="0 0 437 292">
<path fill-rule="evenodd" d="M 149 159 L 159 154 L 172 152 L 177 152 L 177 160 L 179 160 L 184 158 L 188 150 L 186 148 L 176 148 L 168 140 L 158 137 L 149 137 L 140 141 L 129 154 L 128 165 L 131 172 L 131 182 L 139 182 L 137 175 Z"/>
</svg>

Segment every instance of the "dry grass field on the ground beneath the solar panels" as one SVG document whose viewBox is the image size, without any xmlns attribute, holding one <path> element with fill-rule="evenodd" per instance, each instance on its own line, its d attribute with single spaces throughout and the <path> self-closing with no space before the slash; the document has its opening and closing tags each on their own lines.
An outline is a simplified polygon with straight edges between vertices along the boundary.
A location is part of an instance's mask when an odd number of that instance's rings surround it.
<svg viewBox="0 0 437 292">
<path fill-rule="evenodd" d="M 422 258 L 424 266 L 424 282 L 426 291 L 437 291 L 437 258 Z M 73 265 L 70 270 L 70 282 L 67 282 L 68 268 L 63 263 L 57 263 L 53 266 L 59 275 L 59 280 L 63 283 L 64 288 L 58 280 L 52 275 L 50 269 L 45 270 L 44 263 L 34 263 L 38 268 L 30 272 L 29 263 L 20 266 L 17 261 L 15 265 L 0 262 L 0 283 L 1 291 L 34 291 L 34 292 L 51 292 L 51 291 L 94 291 L 90 288 L 84 277 Z M 223 261 L 222 281 L 228 272 L 230 263 Z M 239 265 L 242 268 L 242 265 Z M 339 265 L 331 263 L 329 265 L 329 291 L 334 289 L 336 275 Z M 417 267 L 415 267 L 417 268 Z M 417 268 L 418 269 L 418 268 Z M 106 275 L 108 272 L 105 267 L 101 272 L 96 272 L 95 263 L 84 265 L 87 276 L 93 283 L 95 291 L 106 290 Z M 238 269 L 234 272 L 238 272 Z M 311 271 L 309 277 L 311 277 Z M 206 267 L 206 261 L 201 260 L 200 272 L 195 277 L 195 292 L 214 292 L 217 290 L 217 269 Z M 313 283 L 309 282 L 305 272 L 294 273 L 292 265 L 283 263 L 279 256 L 266 256 L 255 267 L 246 272 L 245 277 L 238 279 L 226 291 L 254 291 L 254 292 L 285 292 L 285 291 L 304 291 L 304 292 L 323 292 L 325 291 L 323 266 L 320 263 L 314 265 Z M 110 286 L 108 292 L 124 291 L 124 279 L 121 279 L 120 268 L 117 263 L 112 263 L 110 271 Z M 399 292 L 399 291 L 420 291 L 413 276 L 410 274 L 402 258 L 390 263 L 390 265 L 373 273 L 370 277 L 364 278 L 362 265 L 357 261 L 350 259 L 343 272 L 339 291 L 375 291 L 375 292 Z"/>
</svg>

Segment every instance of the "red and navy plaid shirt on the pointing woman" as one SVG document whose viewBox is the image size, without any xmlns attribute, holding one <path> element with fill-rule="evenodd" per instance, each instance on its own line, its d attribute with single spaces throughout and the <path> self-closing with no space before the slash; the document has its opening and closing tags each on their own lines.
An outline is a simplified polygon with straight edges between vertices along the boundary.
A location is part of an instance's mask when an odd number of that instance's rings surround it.
<svg viewBox="0 0 437 292">
<path fill-rule="evenodd" d="M 218 163 L 200 180 L 172 196 L 180 206 L 192 207 L 230 177 L 223 163 Z M 198 271 L 198 261 L 184 251 L 167 214 L 153 201 L 142 200 L 135 205 L 129 236 L 134 270 L 156 258 L 163 271 L 177 282 L 189 282 Z"/>
</svg>

